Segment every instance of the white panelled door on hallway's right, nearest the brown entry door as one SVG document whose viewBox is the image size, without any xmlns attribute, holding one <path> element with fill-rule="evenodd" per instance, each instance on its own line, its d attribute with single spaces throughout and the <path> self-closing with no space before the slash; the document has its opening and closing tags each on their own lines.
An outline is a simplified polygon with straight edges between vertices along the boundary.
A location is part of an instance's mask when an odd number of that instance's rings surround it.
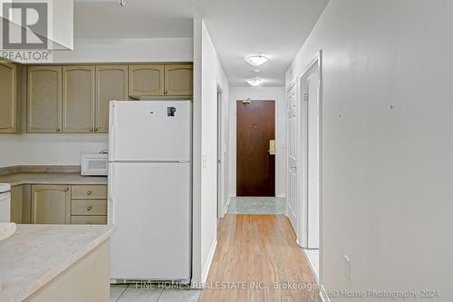
<svg viewBox="0 0 453 302">
<path fill-rule="evenodd" d="M 297 85 L 291 86 L 287 91 L 287 153 L 288 153 L 288 180 L 287 180 L 287 215 L 293 225 L 293 229 L 298 233 L 297 224 L 297 207 L 298 207 L 298 180 L 297 180 L 297 128 L 298 128 L 298 112 L 297 112 Z M 298 234 L 297 234 L 298 235 Z M 297 236 L 299 237 L 299 236 Z"/>
</svg>

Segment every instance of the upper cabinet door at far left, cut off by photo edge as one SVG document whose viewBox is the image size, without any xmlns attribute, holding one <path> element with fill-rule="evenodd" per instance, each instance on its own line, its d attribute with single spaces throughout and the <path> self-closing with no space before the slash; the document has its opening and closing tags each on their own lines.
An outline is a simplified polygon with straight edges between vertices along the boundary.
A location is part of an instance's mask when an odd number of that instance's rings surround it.
<svg viewBox="0 0 453 302">
<path fill-rule="evenodd" d="M 17 66 L 0 63 L 0 133 L 18 132 Z"/>
</svg>

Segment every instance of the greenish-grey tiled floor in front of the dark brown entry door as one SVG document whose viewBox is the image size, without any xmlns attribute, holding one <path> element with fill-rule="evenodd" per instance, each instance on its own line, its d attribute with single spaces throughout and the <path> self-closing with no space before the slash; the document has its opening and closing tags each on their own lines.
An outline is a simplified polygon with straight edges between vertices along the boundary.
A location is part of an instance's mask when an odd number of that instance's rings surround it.
<svg viewBox="0 0 453 302">
<path fill-rule="evenodd" d="M 284 215 L 286 201 L 275 197 L 234 197 L 230 200 L 228 214 Z"/>
</svg>

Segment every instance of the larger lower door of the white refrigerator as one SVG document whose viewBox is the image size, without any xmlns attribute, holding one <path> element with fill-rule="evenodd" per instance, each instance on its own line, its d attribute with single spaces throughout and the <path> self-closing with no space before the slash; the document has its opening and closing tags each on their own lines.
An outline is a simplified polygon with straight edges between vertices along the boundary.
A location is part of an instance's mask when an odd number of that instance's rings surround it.
<svg viewBox="0 0 453 302">
<path fill-rule="evenodd" d="M 188 280 L 190 163 L 111 163 L 111 278 Z"/>
</svg>

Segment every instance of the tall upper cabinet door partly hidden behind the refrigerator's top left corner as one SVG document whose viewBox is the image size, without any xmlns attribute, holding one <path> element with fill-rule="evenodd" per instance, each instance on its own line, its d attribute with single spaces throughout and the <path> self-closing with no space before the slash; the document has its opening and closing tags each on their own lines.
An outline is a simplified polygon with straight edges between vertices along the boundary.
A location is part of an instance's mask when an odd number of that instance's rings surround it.
<svg viewBox="0 0 453 302">
<path fill-rule="evenodd" d="M 96 66 L 94 132 L 109 132 L 109 103 L 128 99 L 128 66 Z"/>
</svg>

